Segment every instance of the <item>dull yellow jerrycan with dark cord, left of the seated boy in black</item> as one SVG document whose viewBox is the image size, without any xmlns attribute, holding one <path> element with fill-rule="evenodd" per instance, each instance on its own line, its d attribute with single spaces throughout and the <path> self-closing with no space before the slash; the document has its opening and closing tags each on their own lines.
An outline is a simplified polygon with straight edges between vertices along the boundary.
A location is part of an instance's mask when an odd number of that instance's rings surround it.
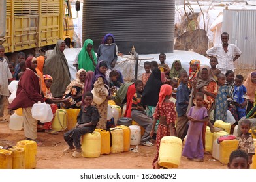
<svg viewBox="0 0 256 182">
<path fill-rule="evenodd" d="M 65 131 L 67 129 L 67 112 L 65 109 L 57 109 L 52 121 L 52 129 L 55 131 Z"/>
</svg>

